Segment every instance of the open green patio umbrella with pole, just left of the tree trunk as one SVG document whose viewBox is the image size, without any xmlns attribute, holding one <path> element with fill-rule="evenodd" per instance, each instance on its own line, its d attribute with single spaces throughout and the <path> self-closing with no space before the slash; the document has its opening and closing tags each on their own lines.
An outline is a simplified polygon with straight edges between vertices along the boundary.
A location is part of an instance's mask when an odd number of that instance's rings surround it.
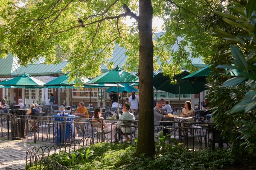
<svg viewBox="0 0 256 170">
<path fill-rule="evenodd" d="M 98 77 L 95 77 L 94 79 L 91 79 L 87 83 L 111 83 L 111 84 L 117 84 L 117 93 L 119 93 L 119 83 L 135 83 L 139 82 L 139 77 L 137 77 L 134 74 L 128 73 L 127 71 L 122 70 L 121 68 L 116 66 L 111 71 L 108 71 Z M 117 98 L 117 102 L 119 104 L 119 97 Z M 119 107 L 117 107 L 119 112 Z"/>
</svg>

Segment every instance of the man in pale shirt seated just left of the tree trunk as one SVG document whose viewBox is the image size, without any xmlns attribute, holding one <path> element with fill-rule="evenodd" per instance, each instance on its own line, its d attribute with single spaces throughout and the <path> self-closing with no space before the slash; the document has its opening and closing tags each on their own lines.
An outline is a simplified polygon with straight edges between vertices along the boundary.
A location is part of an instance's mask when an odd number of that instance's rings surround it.
<svg viewBox="0 0 256 170">
<path fill-rule="evenodd" d="M 123 122 L 123 120 L 135 120 L 135 117 L 132 113 L 129 112 L 130 111 L 130 105 L 124 104 L 124 106 L 122 107 L 122 115 L 119 116 L 119 121 L 116 123 L 116 127 L 120 128 L 121 124 Z M 133 127 L 122 127 L 122 132 L 123 133 L 130 133 L 131 131 L 134 130 Z M 124 135 L 126 142 L 130 141 L 131 139 L 129 138 L 128 135 Z"/>
</svg>

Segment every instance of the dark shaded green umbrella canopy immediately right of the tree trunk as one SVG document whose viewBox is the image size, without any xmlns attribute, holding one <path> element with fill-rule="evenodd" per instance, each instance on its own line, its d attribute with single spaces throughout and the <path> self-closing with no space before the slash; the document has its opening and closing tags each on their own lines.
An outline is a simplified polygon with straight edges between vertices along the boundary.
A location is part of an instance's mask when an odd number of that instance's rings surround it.
<svg viewBox="0 0 256 170">
<path fill-rule="evenodd" d="M 187 71 L 183 71 L 182 74 L 175 75 L 174 79 L 177 79 L 177 84 L 171 84 L 172 80 L 169 79 L 169 77 L 163 76 L 163 73 L 158 73 L 153 78 L 153 84 L 157 90 L 166 91 L 172 94 L 198 94 L 206 89 L 205 81 L 194 82 L 181 79 L 187 75 L 189 75 Z"/>
</svg>

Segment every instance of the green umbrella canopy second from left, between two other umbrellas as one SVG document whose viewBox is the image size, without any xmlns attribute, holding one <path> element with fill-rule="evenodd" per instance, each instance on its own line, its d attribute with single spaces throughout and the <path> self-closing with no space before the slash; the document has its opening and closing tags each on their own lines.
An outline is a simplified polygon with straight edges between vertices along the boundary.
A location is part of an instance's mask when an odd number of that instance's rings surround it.
<svg viewBox="0 0 256 170">
<path fill-rule="evenodd" d="M 68 83 L 68 74 L 63 74 L 60 77 L 57 77 L 56 79 L 53 79 L 52 81 L 49 81 L 45 83 L 45 86 L 72 86 L 76 84 L 76 81 L 81 81 L 81 80 L 75 80 L 73 82 Z M 83 83 L 88 82 L 89 79 L 85 79 Z"/>
</svg>

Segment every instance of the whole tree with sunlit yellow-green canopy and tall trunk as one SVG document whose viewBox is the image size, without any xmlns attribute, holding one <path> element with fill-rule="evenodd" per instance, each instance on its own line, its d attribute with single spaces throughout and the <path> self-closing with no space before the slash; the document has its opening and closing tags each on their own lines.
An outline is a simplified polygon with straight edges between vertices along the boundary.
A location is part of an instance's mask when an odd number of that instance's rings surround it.
<svg viewBox="0 0 256 170">
<path fill-rule="evenodd" d="M 154 69 L 161 68 L 170 77 L 179 73 L 182 65 L 194 69 L 189 57 L 203 57 L 205 63 L 214 65 L 230 63 L 230 44 L 212 36 L 215 28 L 227 25 L 214 11 L 228 12 L 227 7 L 236 2 L 0 0 L 0 55 L 11 52 L 22 65 L 40 57 L 45 57 L 47 63 L 68 59 L 64 72 L 68 71 L 73 81 L 75 77 L 99 75 L 102 64 L 113 68 L 109 59 L 115 45 L 125 47 L 128 59 L 123 68 L 138 71 L 140 77 L 140 108 L 145 113 L 140 114 L 139 139 L 141 135 L 145 141 L 150 135 L 147 139 L 152 144 L 153 129 L 146 128 L 153 126 L 153 63 Z M 125 17 L 136 22 L 127 26 Z M 164 21 L 160 37 L 152 36 L 157 31 L 151 26 L 153 17 Z"/>
</svg>

